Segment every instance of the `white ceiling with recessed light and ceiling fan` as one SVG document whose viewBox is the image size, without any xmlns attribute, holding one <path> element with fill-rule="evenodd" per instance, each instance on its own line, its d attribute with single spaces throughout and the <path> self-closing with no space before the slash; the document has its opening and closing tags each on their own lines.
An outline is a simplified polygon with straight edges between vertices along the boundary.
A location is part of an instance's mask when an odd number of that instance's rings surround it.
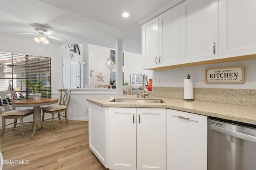
<svg viewBox="0 0 256 170">
<path fill-rule="evenodd" d="M 141 54 L 141 26 L 138 23 L 172 0 L 1 0 L 0 33 L 31 38 L 30 30 L 38 24 L 58 31 L 64 44 L 94 44 L 115 48 L 122 39 L 124 51 Z M 122 13 L 130 16 L 123 18 Z M 32 32 L 30 32 L 32 33 Z"/>
</svg>

